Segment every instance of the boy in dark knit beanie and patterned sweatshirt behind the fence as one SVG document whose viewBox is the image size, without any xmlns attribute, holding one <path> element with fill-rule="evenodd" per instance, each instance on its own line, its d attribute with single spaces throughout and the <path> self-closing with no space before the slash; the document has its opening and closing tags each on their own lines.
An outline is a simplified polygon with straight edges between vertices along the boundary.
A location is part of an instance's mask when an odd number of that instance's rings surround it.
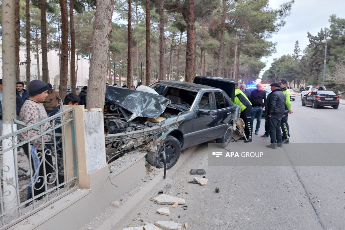
<svg viewBox="0 0 345 230">
<path fill-rule="evenodd" d="M 48 96 L 48 89 L 48 84 L 43 81 L 33 80 L 30 82 L 28 87 L 30 97 L 24 102 L 19 114 L 19 119 L 22 122 L 27 123 L 28 126 L 31 124 L 36 124 L 48 118 L 47 112 L 42 104 Z M 43 132 L 48 130 L 49 122 L 42 124 L 41 128 L 43 129 Z M 29 138 L 33 138 L 38 135 L 39 132 L 36 130 L 29 131 Z M 27 133 L 21 133 L 20 139 L 22 141 L 28 140 Z M 54 154 L 46 154 L 47 152 L 49 152 L 46 151 L 47 149 L 52 149 L 51 144 L 44 144 L 46 142 L 51 142 L 51 136 L 44 135 L 32 140 L 29 144 L 23 145 L 23 150 L 28 158 L 31 159 L 31 167 L 34 170 L 34 172 L 32 172 L 33 188 L 30 182 L 28 187 L 27 199 L 45 192 L 46 186 L 43 186 L 45 180 L 42 178 L 47 178 L 46 175 L 50 175 L 53 171 L 53 168 L 51 166 L 53 165 L 52 155 Z M 29 154 L 31 157 L 29 157 Z M 44 157 L 42 156 L 42 154 L 44 154 Z M 43 160 L 45 161 L 42 162 Z M 46 171 L 46 174 L 44 173 L 44 170 Z M 49 182 L 49 177 L 47 178 L 47 181 Z"/>
</svg>

